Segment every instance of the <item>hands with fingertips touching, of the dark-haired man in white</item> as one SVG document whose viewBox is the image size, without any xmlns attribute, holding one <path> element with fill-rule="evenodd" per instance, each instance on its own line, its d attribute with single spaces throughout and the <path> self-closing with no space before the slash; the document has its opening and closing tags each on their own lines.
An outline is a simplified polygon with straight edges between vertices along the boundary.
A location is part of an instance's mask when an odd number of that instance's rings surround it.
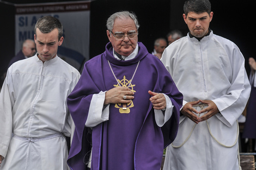
<svg viewBox="0 0 256 170">
<path fill-rule="evenodd" d="M 196 109 L 193 108 L 193 105 L 196 105 L 199 103 L 208 104 L 208 107 L 201 111 L 197 111 Z M 198 124 L 199 122 L 206 121 L 210 117 L 216 115 L 219 112 L 219 110 L 218 110 L 216 104 L 214 102 L 212 102 L 212 100 L 198 100 L 198 101 L 186 103 L 180 112 L 184 116 L 190 118 L 191 121 Z M 201 117 L 198 117 L 193 112 L 195 112 L 196 114 L 202 114 L 202 113 L 206 112 L 206 114 Z"/>
</svg>

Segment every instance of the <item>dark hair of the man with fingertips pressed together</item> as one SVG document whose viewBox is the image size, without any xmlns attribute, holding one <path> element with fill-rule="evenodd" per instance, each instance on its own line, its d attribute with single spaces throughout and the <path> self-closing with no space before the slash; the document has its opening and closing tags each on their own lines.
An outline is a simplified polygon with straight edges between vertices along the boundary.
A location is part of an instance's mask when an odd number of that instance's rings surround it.
<svg viewBox="0 0 256 170">
<path fill-rule="evenodd" d="M 188 0 L 183 9 L 186 16 L 188 12 L 196 12 L 197 14 L 207 12 L 210 15 L 211 3 L 209 0 Z"/>
</svg>

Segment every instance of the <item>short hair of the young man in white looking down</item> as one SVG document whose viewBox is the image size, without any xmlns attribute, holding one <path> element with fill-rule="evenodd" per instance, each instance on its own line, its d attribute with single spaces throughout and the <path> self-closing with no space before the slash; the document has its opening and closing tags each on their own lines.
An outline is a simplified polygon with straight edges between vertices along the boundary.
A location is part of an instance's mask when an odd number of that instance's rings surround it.
<svg viewBox="0 0 256 170">
<path fill-rule="evenodd" d="M 40 30 L 42 33 L 50 33 L 53 29 L 58 29 L 58 38 L 62 37 L 63 34 L 63 26 L 62 23 L 57 18 L 54 18 L 52 16 L 45 16 L 42 18 L 39 18 L 39 20 L 35 24 L 35 37 L 36 37 L 36 28 Z"/>
</svg>

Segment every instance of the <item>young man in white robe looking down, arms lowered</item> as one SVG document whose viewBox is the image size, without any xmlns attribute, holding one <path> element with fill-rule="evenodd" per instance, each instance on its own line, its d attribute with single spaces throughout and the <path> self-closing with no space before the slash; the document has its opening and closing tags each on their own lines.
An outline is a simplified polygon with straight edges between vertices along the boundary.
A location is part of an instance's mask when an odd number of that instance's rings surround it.
<svg viewBox="0 0 256 170">
<path fill-rule="evenodd" d="M 80 73 L 57 56 L 62 34 L 59 20 L 40 18 L 37 53 L 8 69 L 0 93 L 1 170 L 69 169 L 65 136 L 71 134 L 72 118 L 66 98 Z"/>
</svg>

